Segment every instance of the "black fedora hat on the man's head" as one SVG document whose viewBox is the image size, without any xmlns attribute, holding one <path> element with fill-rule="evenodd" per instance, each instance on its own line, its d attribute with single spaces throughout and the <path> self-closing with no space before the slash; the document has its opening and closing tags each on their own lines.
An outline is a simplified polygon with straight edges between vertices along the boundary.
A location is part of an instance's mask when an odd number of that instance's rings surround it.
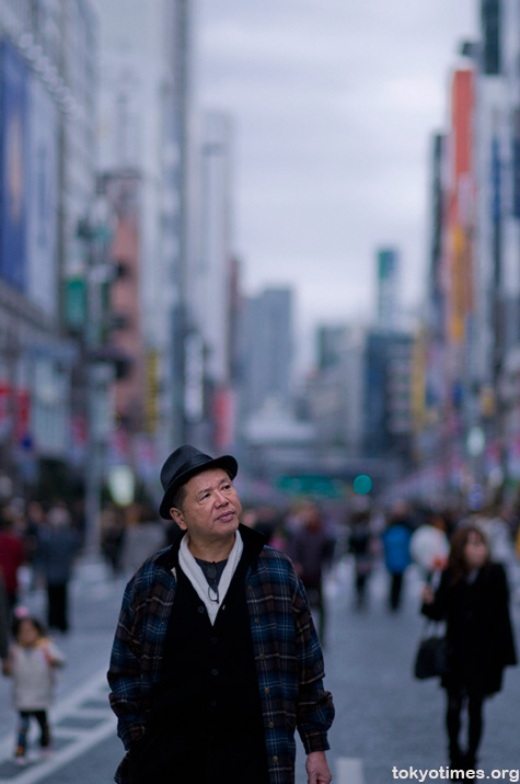
<svg viewBox="0 0 520 784">
<path fill-rule="evenodd" d="M 208 468 L 223 468 L 230 478 L 234 479 L 239 470 L 239 464 L 231 455 L 210 457 L 190 444 L 184 444 L 184 446 L 180 446 L 175 452 L 172 452 L 161 468 L 161 484 L 164 490 L 164 496 L 159 507 L 161 518 L 170 520 L 173 497 L 178 488 L 195 474 Z"/>
</svg>

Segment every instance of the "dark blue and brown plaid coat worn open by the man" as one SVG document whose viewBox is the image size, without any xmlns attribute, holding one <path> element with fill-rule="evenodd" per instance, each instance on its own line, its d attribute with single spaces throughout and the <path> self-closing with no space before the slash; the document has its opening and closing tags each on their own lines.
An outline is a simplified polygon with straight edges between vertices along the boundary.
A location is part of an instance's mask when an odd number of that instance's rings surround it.
<svg viewBox="0 0 520 784">
<path fill-rule="evenodd" d="M 328 749 L 334 718 L 323 686 L 323 656 L 307 595 L 290 559 L 262 546 L 258 533 L 240 526 L 244 546 L 257 547 L 245 578 L 270 784 L 294 781 L 294 730 L 307 753 Z M 161 678 L 162 655 L 175 598 L 178 545 L 149 558 L 128 583 L 108 670 L 111 705 L 125 749 L 140 738 Z M 128 754 L 116 782 L 129 782 Z"/>
</svg>

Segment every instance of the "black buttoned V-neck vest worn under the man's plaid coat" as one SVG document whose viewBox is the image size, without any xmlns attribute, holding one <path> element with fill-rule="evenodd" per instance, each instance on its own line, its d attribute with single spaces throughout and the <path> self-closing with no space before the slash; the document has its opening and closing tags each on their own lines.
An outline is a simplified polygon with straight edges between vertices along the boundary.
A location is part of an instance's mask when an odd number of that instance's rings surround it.
<svg viewBox="0 0 520 784">
<path fill-rule="evenodd" d="M 162 678 L 154 711 L 180 729 L 229 737 L 262 730 L 258 683 L 245 601 L 243 554 L 211 625 L 206 606 L 177 568 Z"/>
</svg>

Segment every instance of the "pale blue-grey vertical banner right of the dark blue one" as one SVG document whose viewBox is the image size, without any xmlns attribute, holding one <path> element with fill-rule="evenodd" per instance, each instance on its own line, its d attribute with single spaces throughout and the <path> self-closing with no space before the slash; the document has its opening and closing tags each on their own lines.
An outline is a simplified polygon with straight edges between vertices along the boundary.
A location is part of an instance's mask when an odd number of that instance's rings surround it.
<svg viewBox="0 0 520 784">
<path fill-rule="evenodd" d="M 56 106 L 36 79 L 28 88 L 27 296 L 57 311 L 58 122 Z"/>
</svg>

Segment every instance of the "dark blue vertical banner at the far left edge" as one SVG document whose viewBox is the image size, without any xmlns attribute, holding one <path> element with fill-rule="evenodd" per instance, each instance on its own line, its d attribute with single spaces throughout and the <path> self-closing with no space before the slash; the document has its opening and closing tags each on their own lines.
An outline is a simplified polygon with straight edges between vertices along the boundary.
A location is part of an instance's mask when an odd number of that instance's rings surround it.
<svg viewBox="0 0 520 784">
<path fill-rule="evenodd" d="M 25 293 L 28 69 L 8 41 L 0 63 L 0 277 Z"/>
</svg>

